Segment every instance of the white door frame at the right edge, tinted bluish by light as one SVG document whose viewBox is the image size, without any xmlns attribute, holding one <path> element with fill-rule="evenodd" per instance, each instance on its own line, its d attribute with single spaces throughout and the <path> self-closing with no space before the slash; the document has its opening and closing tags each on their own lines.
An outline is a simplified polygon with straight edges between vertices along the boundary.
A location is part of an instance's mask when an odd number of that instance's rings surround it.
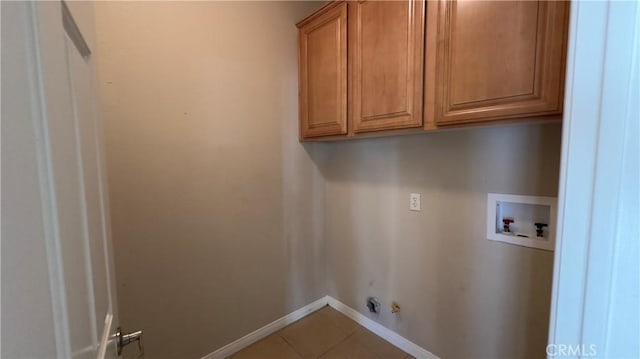
<svg viewBox="0 0 640 359">
<path fill-rule="evenodd" d="M 611 331 L 622 324 L 612 311 L 635 311 L 638 320 L 633 299 L 616 281 L 632 280 L 631 291 L 638 290 L 637 261 L 634 268 L 619 259 L 625 249 L 637 256 L 640 238 L 640 6 L 572 1 L 569 31 L 547 355 L 606 357 L 638 334 L 612 342 Z"/>
</svg>

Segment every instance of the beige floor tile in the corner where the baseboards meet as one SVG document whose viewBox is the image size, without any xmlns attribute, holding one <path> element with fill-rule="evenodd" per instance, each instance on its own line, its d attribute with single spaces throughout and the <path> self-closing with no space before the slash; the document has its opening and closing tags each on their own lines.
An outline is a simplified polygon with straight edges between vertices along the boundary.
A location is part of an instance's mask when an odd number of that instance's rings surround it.
<svg viewBox="0 0 640 359">
<path fill-rule="evenodd" d="M 282 329 L 278 334 L 302 357 L 317 358 L 355 330 L 350 329 L 342 318 L 328 311 L 333 309 L 321 309 Z"/>
</svg>

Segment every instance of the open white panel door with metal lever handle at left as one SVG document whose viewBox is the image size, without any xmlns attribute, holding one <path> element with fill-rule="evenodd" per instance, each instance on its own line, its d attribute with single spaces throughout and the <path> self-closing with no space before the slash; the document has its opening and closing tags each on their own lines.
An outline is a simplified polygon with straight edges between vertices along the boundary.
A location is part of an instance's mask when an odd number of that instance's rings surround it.
<svg viewBox="0 0 640 359">
<path fill-rule="evenodd" d="M 3 182 L 10 171 L 2 191 L 35 192 L 39 198 L 37 204 L 25 204 L 31 197 L 9 195 L 2 202 L 2 357 L 115 358 L 115 340 L 110 339 L 117 327 L 114 272 L 93 49 L 63 2 L 3 2 L 2 13 L 3 22 L 11 19 L 2 28 L 2 102 L 8 105 L 2 113 Z M 13 83 L 6 83 L 5 75 Z M 14 134 L 25 136 L 12 139 Z M 18 177 L 16 171 L 23 168 L 34 171 Z M 33 227 L 18 223 L 40 228 L 33 234 Z M 42 244 L 46 263 L 37 263 L 25 243 Z M 6 261 L 12 265 L 8 272 Z M 23 286 L 12 287 L 31 280 L 27 276 L 35 267 L 47 272 L 39 278 L 48 284 L 50 308 L 42 315 L 13 318 L 12 313 L 28 316 L 43 305 L 32 303 L 32 293 Z M 48 349 L 49 341 L 55 352 Z M 29 345 L 42 347 L 31 351 Z"/>
</svg>

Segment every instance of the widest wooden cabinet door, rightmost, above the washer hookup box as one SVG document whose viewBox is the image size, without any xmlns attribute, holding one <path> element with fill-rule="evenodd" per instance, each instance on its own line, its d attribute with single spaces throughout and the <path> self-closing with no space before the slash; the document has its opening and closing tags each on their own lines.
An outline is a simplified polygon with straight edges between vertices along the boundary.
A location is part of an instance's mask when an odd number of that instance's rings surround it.
<svg viewBox="0 0 640 359">
<path fill-rule="evenodd" d="M 568 2 L 441 1 L 438 125 L 562 112 Z"/>
</svg>

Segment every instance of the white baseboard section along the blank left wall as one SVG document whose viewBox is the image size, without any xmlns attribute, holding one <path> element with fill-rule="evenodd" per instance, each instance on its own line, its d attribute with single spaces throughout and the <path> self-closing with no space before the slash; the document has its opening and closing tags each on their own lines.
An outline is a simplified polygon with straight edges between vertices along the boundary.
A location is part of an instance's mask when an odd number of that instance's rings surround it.
<svg viewBox="0 0 640 359">
<path fill-rule="evenodd" d="M 202 359 L 223 359 L 234 353 L 239 352 L 240 350 L 248 347 L 249 345 L 259 341 L 260 339 L 265 338 L 266 336 L 277 332 L 278 330 L 286 327 L 287 325 L 300 320 L 307 315 L 315 312 L 318 309 L 327 305 L 327 297 L 322 297 L 311 304 L 307 304 L 304 307 L 296 310 L 295 312 L 289 313 L 280 319 L 276 319 L 275 321 L 265 325 L 264 327 L 251 332 L 244 337 L 229 343 L 222 348 L 214 351 L 213 353 L 209 353 L 202 357 Z"/>
</svg>

